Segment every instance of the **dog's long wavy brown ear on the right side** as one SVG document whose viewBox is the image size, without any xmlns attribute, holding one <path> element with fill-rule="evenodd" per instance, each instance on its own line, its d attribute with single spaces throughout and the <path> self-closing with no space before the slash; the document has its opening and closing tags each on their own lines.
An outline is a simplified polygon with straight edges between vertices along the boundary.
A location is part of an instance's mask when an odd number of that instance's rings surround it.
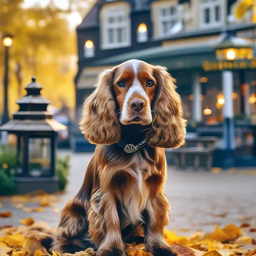
<svg viewBox="0 0 256 256">
<path fill-rule="evenodd" d="M 182 118 L 182 104 L 173 78 L 166 68 L 154 67 L 157 95 L 153 106 L 152 127 L 147 134 L 152 147 L 177 148 L 184 144 L 186 120 Z"/>
</svg>

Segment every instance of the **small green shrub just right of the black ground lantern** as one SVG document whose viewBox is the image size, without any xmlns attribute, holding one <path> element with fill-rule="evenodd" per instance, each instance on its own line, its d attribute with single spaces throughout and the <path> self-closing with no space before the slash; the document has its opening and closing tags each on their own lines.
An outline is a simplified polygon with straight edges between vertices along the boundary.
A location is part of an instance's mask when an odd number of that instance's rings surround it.
<svg viewBox="0 0 256 256">
<path fill-rule="evenodd" d="M 63 191 L 68 184 L 68 175 L 70 170 L 70 157 L 58 158 L 56 164 L 56 175 L 59 179 L 59 189 Z"/>
</svg>

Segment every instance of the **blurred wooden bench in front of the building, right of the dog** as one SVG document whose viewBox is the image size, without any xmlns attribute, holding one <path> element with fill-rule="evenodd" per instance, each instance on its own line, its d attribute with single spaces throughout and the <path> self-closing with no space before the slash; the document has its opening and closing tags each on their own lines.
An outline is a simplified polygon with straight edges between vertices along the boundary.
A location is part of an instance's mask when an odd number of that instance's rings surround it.
<svg viewBox="0 0 256 256">
<path fill-rule="evenodd" d="M 186 143 L 172 150 L 175 166 L 182 169 L 193 167 L 195 170 L 212 168 L 212 152 L 215 148 L 216 137 L 196 137 L 186 139 Z"/>
</svg>

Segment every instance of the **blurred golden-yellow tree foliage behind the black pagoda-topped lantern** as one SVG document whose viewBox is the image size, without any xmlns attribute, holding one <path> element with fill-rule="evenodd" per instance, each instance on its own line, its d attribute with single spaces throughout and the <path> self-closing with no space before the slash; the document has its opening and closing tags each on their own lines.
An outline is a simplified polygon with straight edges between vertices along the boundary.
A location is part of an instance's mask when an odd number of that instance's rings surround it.
<svg viewBox="0 0 256 256">
<path fill-rule="evenodd" d="M 35 2 L 33 7 L 24 8 L 23 0 L 0 0 L 0 33 L 13 35 L 10 112 L 16 108 L 20 86 L 26 86 L 34 75 L 52 104 L 60 107 L 61 99 L 65 99 L 68 107 L 74 107 L 76 34 L 70 29 L 67 17 L 77 10 L 86 12 L 92 3 L 92 0 L 68 0 L 62 8 L 51 0 L 45 7 Z M 0 47 L 0 61 L 3 63 L 3 47 Z M 0 77 L 1 68 L 3 65 L 0 65 Z M 3 102 L 2 95 L 0 91 L 0 102 Z"/>
</svg>

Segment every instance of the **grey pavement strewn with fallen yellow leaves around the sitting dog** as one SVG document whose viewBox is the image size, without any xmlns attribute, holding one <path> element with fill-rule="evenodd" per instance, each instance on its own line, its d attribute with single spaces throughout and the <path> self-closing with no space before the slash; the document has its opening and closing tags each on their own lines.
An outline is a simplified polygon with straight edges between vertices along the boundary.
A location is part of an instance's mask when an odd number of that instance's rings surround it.
<svg viewBox="0 0 256 256">
<path fill-rule="evenodd" d="M 41 195 L 0 198 L 0 216 L 6 217 L 0 218 L 0 226 L 14 226 L 14 228 L 1 227 L 1 254 L 6 255 L 6 250 L 9 250 L 9 256 L 29 255 L 36 250 L 38 256 L 46 253 L 36 241 L 36 237 L 40 236 L 36 227 L 44 227 L 47 232 L 54 232 L 60 220 L 60 210 L 76 195 L 77 189 L 83 183 L 81 177 L 84 176 L 84 170 L 91 156 L 91 154 L 70 156 L 72 168 L 65 194 L 41 193 Z M 172 204 L 172 218 L 168 226 L 172 231 L 166 231 L 168 243 L 192 246 L 196 250 L 209 253 L 209 256 L 255 255 L 256 176 L 254 172 L 254 170 L 250 172 L 230 170 L 219 173 L 194 170 L 180 172 L 169 168 L 165 192 Z M 227 231 L 229 228 L 223 230 L 229 223 L 236 225 L 236 228 L 229 226 L 232 231 Z M 215 226 L 219 227 L 216 228 L 216 232 L 214 232 Z M 10 239 L 9 241 L 13 238 L 14 243 L 18 244 L 8 243 L 6 237 Z M 133 248 L 134 244 L 127 246 Z M 20 251 L 19 248 L 23 250 Z M 26 252 L 28 250 L 29 253 Z M 136 256 L 147 255 L 143 250 L 129 253 Z M 84 252 L 79 254 L 79 256 L 86 255 Z M 94 253 L 87 252 L 87 255 Z"/>
</svg>

